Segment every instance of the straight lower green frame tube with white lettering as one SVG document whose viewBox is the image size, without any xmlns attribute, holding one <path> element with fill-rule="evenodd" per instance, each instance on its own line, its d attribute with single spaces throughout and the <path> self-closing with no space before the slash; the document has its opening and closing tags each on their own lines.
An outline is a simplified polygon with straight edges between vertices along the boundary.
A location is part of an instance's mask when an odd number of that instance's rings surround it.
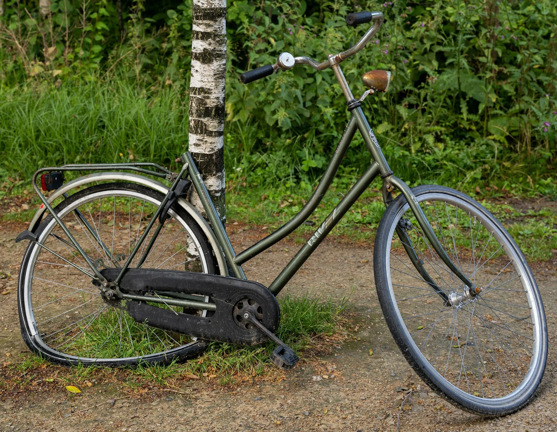
<svg viewBox="0 0 557 432">
<path fill-rule="evenodd" d="M 300 248 L 294 258 L 287 264 L 287 266 L 280 272 L 277 278 L 269 286 L 269 290 L 275 296 L 281 291 L 288 281 L 294 276 L 298 269 L 304 264 L 307 258 L 315 251 L 317 246 L 323 239 L 331 232 L 331 229 L 339 222 L 346 212 L 352 207 L 356 200 L 364 193 L 365 189 L 372 183 L 375 177 L 379 174 L 379 164 L 374 162 L 365 171 L 358 181 L 350 188 L 345 197 L 340 200 L 339 204 L 333 209 L 333 212 L 325 219 L 323 224 L 311 236 L 307 243 Z"/>
</svg>

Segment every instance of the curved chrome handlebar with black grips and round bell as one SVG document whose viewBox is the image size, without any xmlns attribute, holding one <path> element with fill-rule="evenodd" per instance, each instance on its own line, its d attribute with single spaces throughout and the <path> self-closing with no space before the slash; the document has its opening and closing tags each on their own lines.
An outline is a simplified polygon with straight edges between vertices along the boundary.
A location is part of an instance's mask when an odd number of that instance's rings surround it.
<svg viewBox="0 0 557 432">
<path fill-rule="evenodd" d="M 353 47 L 349 48 L 346 51 L 343 51 L 336 55 L 329 56 L 328 60 L 325 60 L 322 63 L 316 62 L 311 57 L 305 57 L 305 56 L 294 57 L 293 58 L 294 61 L 291 61 L 292 55 L 283 52 L 280 56 L 278 56 L 277 62 L 274 65 L 261 66 L 251 71 L 244 72 L 242 73 L 242 75 L 240 75 L 240 80 L 243 82 L 243 84 L 247 84 L 248 82 L 252 82 L 258 80 L 259 78 L 263 78 L 265 76 L 271 75 L 271 73 L 273 73 L 274 71 L 278 71 L 278 69 L 282 71 L 287 71 L 292 67 L 294 67 L 294 65 L 310 65 L 312 68 L 314 68 L 317 71 L 323 71 L 328 67 L 331 67 L 333 65 L 338 65 L 338 63 L 346 60 L 346 58 L 350 56 L 353 56 L 355 53 L 357 53 L 367 45 L 367 43 L 379 30 L 381 24 L 383 24 L 384 17 L 382 12 L 364 11 L 364 12 L 350 13 L 346 16 L 345 19 L 346 19 L 346 24 L 348 24 L 349 26 L 357 26 L 358 24 L 362 24 L 370 21 L 374 21 L 374 23 L 372 24 L 371 27 L 369 27 L 369 30 L 365 32 L 365 35 L 361 37 L 361 39 L 358 41 L 358 43 L 356 43 L 356 45 L 354 45 Z"/>
</svg>

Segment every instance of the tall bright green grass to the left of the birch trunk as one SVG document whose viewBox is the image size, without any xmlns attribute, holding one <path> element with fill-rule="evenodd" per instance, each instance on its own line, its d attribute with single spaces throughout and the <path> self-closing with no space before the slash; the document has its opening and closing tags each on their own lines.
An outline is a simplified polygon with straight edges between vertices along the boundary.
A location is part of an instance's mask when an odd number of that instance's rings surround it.
<svg viewBox="0 0 557 432">
<path fill-rule="evenodd" d="M 187 101 L 168 88 L 125 81 L 60 89 L 0 89 L 4 175 L 41 166 L 152 160 L 169 165 L 187 147 Z"/>
</svg>

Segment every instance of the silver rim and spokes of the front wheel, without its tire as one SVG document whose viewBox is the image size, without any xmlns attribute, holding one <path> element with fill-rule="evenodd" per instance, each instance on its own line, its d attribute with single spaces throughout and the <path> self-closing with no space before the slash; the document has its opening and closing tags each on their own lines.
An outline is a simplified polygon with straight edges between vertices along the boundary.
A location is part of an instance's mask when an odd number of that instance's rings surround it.
<svg viewBox="0 0 557 432">
<path fill-rule="evenodd" d="M 524 394 L 541 360 L 540 304 L 535 284 L 514 242 L 487 214 L 443 193 L 417 197 L 449 257 L 483 291 L 466 296 L 464 284 L 437 256 L 408 204 L 394 220 L 408 219 L 406 232 L 433 281 L 453 304 L 416 271 L 393 224 L 385 262 L 389 293 L 399 322 L 437 382 L 482 404 Z M 454 301 L 454 299 L 460 301 Z M 491 400 L 491 401 L 490 401 Z"/>
</svg>

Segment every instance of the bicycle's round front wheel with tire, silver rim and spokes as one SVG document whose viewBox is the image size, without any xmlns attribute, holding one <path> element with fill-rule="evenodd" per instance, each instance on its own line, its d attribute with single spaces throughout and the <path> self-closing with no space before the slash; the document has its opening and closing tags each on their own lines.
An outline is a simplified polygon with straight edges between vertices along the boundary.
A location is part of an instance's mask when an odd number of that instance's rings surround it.
<svg viewBox="0 0 557 432">
<path fill-rule="evenodd" d="M 475 200 L 443 186 L 412 192 L 449 257 L 483 291 L 464 295 L 400 194 L 383 215 L 374 250 L 389 330 L 417 374 L 444 398 L 479 414 L 512 413 L 534 396 L 548 355 L 534 276 L 509 233 Z M 416 252 L 428 282 L 407 249 Z"/>
</svg>

